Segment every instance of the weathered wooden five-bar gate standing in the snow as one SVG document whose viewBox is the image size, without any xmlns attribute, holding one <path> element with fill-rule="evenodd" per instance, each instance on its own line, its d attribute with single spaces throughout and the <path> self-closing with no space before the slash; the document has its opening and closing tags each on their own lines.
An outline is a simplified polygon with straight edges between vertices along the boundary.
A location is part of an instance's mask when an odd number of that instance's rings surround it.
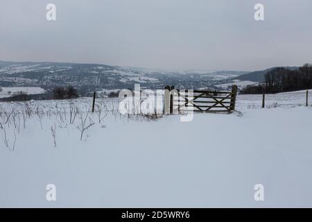
<svg viewBox="0 0 312 222">
<path fill-rule="evenodd" d="M 232 112 L 235 110 L 237 86 L 232 92 L 171 89 L 170 113 Z"/>
</svg>

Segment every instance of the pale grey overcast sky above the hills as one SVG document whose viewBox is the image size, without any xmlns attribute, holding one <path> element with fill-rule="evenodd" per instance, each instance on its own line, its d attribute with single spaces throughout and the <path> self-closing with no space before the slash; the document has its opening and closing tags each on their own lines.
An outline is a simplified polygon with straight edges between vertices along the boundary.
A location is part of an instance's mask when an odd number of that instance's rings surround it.
<svg viewBox="0 0 312 222">
<path fill-rule="evenodd" d="M 46 20 L 55 3 L 57 20 Z M 265 20 L 254 20 L 263 3 Z M 1 0 L 0 60 L 252 71 L 312 62 L 311 0 Z"/>
</svg>

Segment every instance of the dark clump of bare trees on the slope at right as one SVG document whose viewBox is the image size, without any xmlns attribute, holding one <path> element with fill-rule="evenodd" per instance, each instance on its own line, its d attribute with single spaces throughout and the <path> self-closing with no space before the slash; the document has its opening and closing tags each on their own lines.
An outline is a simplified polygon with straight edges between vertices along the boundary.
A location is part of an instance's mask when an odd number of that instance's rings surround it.
<svg viewBox="0 0 312 222">
<path fill-rule="evenodd" d="M 291 92 L 302 89 L 312 89 L 312 64 L 305 64 L 299 69 L 272 69 L 265 75 L 264 83 L 245 87 L 241 94 Z"/>
</svg>

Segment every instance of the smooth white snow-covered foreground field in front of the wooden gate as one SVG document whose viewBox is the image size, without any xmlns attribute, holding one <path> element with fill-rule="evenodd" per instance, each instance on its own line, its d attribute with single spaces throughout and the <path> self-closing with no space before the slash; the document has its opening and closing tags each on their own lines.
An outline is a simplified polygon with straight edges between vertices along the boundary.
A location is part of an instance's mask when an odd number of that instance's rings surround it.
<svg viewBox="0 0 312 222">
<path fill-rule="evenodd" d="M 191 122 L 122 116 L 111 100 L 98 100 L 100 118 L 89 98 L 0 103 L 0 207 L 312 207 L 305 91 L 261 99 L 239 95 L 237 112 Z"/>
</svg>

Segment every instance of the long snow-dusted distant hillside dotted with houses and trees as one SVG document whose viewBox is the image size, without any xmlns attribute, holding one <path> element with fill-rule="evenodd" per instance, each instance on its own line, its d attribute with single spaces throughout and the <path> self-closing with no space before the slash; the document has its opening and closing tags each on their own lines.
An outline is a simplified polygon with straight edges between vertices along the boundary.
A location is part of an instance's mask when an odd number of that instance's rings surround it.
<svg viewBox="0 0 312 222">
<path fill-rule="evenodd" d="M 0 61 L 0 86 L 42 87 L 47 92 L 53 87 L 73 85 L 87 92 L 102 89 L 142 88 L 211 88 L 219 82 L 234 78 L 246 71 L 222 70 L 165 70 L 119 67 L 102 64 L 65 62 L 6 62 Z"/>
</svg>

